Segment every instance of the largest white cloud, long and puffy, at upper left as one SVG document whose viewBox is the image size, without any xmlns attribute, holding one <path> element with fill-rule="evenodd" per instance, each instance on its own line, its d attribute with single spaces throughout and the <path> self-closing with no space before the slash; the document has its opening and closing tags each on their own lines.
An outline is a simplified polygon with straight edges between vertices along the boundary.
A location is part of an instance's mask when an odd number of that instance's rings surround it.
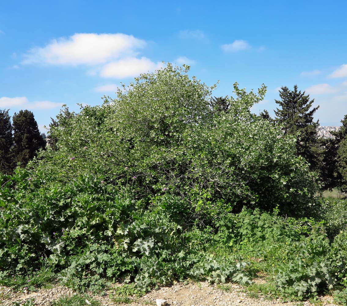
<svg viewBox="0 0 347 306">
<path fill-rule="evenodd" d="M 122 56 L 135 56 L 146 42 L 133 35 L 76 33 L 69 38 L 53 40 L 47 46 L 29 50 L 22 64 L 52 65 L 103 64 Z"/>
</svg>

